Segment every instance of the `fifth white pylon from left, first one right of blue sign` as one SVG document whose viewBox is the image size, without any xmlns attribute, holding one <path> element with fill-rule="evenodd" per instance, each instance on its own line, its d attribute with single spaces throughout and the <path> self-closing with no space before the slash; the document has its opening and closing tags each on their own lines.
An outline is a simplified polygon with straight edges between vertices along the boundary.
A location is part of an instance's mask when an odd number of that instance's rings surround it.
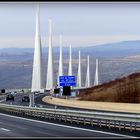
<svg viewBox="0 0 140 140">
<path fill-rule="evenodd" d="M 81 87 L 81 54 L 79 51 L 79 63 L 78 63 L 78 74 L 77 74 L 77 86 Z"/>
</svg>

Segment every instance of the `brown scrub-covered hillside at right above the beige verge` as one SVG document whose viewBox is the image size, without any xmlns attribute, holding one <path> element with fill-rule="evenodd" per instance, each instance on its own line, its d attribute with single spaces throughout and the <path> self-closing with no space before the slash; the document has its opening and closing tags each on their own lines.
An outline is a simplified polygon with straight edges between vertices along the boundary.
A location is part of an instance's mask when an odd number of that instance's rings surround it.
<svg viewBox="0 0 140 140">
<path fill-rule="evenodd" d="M 140 73 L 82 90 L 79 100 L 140 103 Z"/>
</svg>

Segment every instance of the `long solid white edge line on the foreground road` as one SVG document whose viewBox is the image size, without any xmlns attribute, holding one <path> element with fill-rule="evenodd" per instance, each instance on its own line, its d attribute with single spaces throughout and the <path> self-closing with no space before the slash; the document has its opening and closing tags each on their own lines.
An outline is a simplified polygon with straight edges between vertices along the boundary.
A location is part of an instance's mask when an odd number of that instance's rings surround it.
<svg viewBox="0 0 140 140">
<path fill-rule="evenodd" d="M 21 118 L 21 117 L 7 115 L 7 114 L 3 114 L 3 113 L 0 113 L 0 115 L 12 117 L 12 118 L 18 118 L 18 119 L 27 120 L 27 121 L 32 121 L 32 122 L 38 122 L 38 123 L 43 123 L 43 124 L 59 126 L 59 127 L 65 127 L 65 128 L 71 128 L 71 129 L 77 129 L 77 130 L 84 130 L 84 131 L 96 132 L 96 133 L 102 133 L 102 134 L 109 134 L 109 135 L 121 136 L 121 137 L 127 137 L 127 138 L 137 138 L 137 137 L 129 136 L 129 135 L 123 135 L 123 134 L 117 134 L 117 133 L 111 133 L 111 132 L 105 132 L 105 131 L 98 131 L 98 130 L 92 130 L 92 129 L 86 129 L 86 128 L 79 128 L 79 127 L 67 126 L 67 125 L 62 125 L 62 124 L 55 124 L 55 123 L 50 123 L 50 122 L 43 122 L 43 121 L 33 120 L 33 119 L 28 119 L 28 118 Z"/>
</svg>

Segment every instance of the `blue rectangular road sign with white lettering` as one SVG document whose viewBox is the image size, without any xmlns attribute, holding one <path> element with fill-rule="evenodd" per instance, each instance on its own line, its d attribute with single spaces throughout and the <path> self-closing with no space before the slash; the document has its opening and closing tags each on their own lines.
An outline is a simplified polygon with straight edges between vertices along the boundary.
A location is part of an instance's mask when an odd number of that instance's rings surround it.
<svg viewBox="0 0 140 140">
<path fill-rule="evenodd" d="M 59 76 L 59 86 L 76 86 L 76 76 Z"/>
</svg>

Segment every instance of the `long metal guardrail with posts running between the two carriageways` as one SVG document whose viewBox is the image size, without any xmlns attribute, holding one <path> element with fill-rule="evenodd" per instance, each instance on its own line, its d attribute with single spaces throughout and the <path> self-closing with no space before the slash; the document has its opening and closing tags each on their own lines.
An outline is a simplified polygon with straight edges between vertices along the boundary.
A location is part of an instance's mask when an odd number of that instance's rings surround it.
<svg viewBox="0 0 140 140">
<path fill-rule="evenodd" d="M 23 117 L 54 119 L 91 126 L 99 125 L 100 127 L 107 126 L 108 128 L 114 127 L 119 130 L 129 129 L 131 132 L 132 130 L 140 130 L 140 114 L 36 108 L 7 104 L 0 104 L 0 111 Z"/>
</svg>

